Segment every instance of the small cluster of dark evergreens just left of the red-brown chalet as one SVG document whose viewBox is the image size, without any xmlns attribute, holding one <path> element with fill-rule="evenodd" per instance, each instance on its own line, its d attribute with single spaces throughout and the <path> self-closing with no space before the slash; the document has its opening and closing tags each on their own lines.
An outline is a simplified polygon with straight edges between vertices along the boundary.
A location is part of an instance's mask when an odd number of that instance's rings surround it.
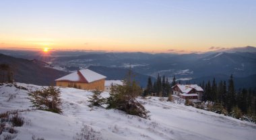
<svg viewBox="0 0 256 140">
<path fill-rule="evenodd" d="M 168 81 L 168 78 L 165 78 L 165 76 L 160 77 L 158 74 L 158 77 L 156 78 L 154 84 L 152 84 L 151 77 L 149 77 L 148 84 L 143 92 L 143 96 L 156 93 L 156 96 L 167 97 L 170 95 L 172 91 L 172 86 L 174 86 L 175 84 L 177 84 L 175 76 L 173 77 L 172 82 L 170 83 Z"/>
</svg>

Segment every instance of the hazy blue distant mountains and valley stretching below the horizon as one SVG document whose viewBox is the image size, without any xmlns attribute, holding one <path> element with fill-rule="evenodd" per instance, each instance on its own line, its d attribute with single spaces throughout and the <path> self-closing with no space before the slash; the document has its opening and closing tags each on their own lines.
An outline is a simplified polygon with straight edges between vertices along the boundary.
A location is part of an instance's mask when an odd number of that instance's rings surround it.
<svg viewBox="0 0 256 140">
<path fill-rule="evenodd" d="M 216 48 L 215 48 L 216 49 Z M 222 50 L 220 52 L 220 50 Z M 236 87 L 256 88 L 256 48 L 219 48 L 214 52 L 203 54 L 147 54 L 142 52 L 53 52 L 52 56 L 38 54 L 18 55 L 10 50 L 0 50 L 0 53 L 15 57 L 38 59 L 50 62 L 52 68 L 71 72 L 81 68 L 90 68 L 102 73 L 108 79 L 123 79 L 128 68 L 132 68 L 138 76 L 141 86 L 146 85 L 148 76 L 156 78 L 166 76 L 172 80 L 176 76 L 180 80 L 190 80 L 196 83 L 202 80 L 228 80 L 234 75 Z M 24 57 L 26 56 L 26 57 Z M 38 63 L 38 62 L 37 62 Z"/>
</svg>

